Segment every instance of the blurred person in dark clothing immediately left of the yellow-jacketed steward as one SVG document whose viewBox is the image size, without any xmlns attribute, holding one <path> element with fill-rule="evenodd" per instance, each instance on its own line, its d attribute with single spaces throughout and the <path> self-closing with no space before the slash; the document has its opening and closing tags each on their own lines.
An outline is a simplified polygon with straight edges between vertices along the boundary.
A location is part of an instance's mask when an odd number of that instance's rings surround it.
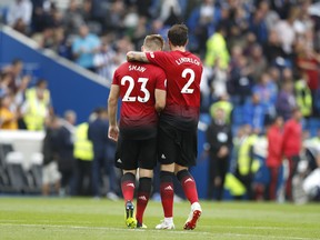
<svg viewBox="0 0 320 240">
<path fill-rule="evenodd" d="M 73 143 L 74 143 L 74 124 L 77 114 L 72 110 L 64 112 L 63 120 L 61 120 L 61 128 L 58 133 L 58 169 L 61 173 L 61 186 L 59 194 L 61 197 L 73 194 L 74 181 L 74 158 L 73 158 Z"/>
</svg>

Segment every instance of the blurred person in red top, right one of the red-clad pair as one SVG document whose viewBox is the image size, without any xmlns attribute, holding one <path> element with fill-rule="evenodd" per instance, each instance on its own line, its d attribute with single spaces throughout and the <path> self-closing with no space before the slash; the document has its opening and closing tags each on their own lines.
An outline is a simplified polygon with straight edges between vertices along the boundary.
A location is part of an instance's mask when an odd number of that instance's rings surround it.
<svg viewBox="0 0 320 240">
<path fill-rule="evenodd" d="M 292 110 L 292 117 L 284 123 L 282 154 L 289 163 L 289 176 L 286 182 L 286 199 L 292 201 L 292 178 L 297 171 L 302 146 L 301 111 L 298 108 Z"/>
</svg>

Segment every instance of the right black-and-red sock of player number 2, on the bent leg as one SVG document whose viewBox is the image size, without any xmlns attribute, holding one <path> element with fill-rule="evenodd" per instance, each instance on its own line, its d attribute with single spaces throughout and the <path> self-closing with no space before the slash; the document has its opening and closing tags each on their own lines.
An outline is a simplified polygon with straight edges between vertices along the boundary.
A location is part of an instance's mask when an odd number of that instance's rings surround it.
<svg viewBox="0 0 320 240">
<path fill-rule="evenodd" d="M 187 169 L 181 170 L 177 173 L 177 178 L 180 181 L 186 198 L 190 201 L 190 203 L 192 204 L 193 202 L 198 202 L 199 199 L 196 181 L 190 172 Z"/>
</svg>

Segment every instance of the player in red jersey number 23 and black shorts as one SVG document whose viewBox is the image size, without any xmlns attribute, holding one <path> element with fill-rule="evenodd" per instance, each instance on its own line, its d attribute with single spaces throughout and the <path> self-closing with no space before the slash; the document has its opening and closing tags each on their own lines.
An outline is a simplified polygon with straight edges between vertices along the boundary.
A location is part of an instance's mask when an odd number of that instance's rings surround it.
<svg viewBox="0 0 320 240">
<path fill-rule="evenodd" d="M 164 40 L 147 36 L 142 51 L 161 51 Z M 126 224 L 144 228 L 142 217 L 151 192 L 157 164 L 158 114 L 166 106 L 166 73 L 157 66 L 126 62 L 114 72 L 108 99 L 109 138 L 118 141 L 116 167 L 122 169 L 121 190 L 126 201 Z M 120 123 L 117 123 L 118 98 L 121 98 Z M 120 129 L 120 130 L 119 130 Z M 132 203 L 139 168 L 137 214 Z"/>
</svg>

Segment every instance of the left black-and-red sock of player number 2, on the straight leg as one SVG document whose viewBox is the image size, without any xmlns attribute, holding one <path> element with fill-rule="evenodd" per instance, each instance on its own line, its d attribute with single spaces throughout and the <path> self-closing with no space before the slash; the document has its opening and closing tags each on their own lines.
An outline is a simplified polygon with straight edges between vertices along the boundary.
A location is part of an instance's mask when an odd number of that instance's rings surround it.
<svg viewBox="0 0 320 240">
<path fill-rule="evenodd" d="M 160 172 L 160 196 L 163 208 L 164 218 L 173 217 L 173 172 Z"/>
</svg>

